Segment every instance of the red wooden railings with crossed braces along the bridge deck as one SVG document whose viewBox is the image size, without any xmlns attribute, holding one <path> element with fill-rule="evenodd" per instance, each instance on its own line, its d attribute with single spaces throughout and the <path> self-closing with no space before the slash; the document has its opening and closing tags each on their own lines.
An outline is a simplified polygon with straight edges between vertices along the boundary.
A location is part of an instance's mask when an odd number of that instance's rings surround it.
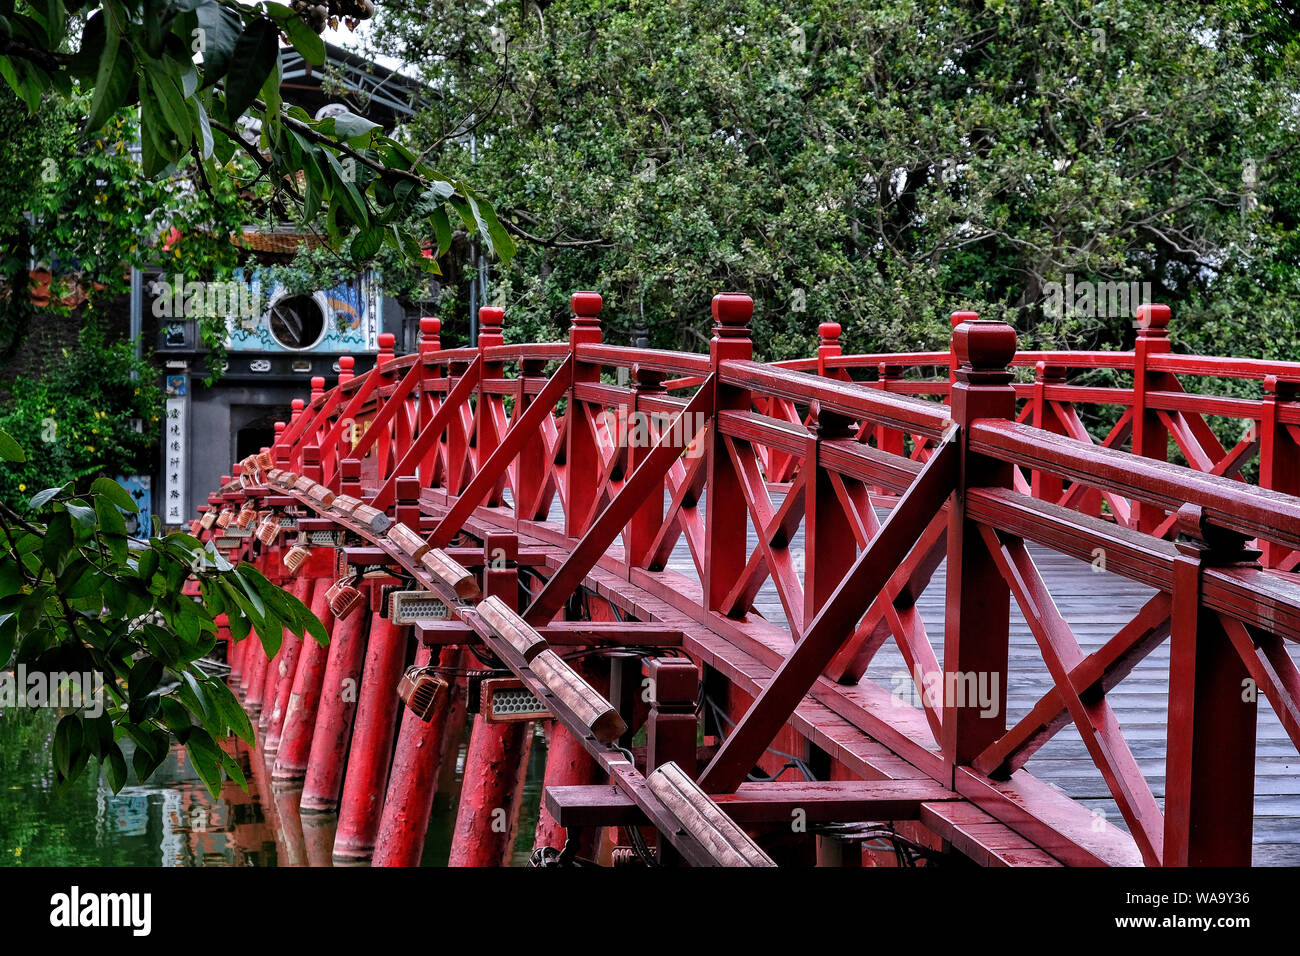
<svg viewBox="0 0 1300 956">
<path fill-rule="evenodd" d="M 562 548 L 529 592 L 523 617 L 533 627 L 549 626 L 576 592 L 597 591 L 593 575 L 614 575 L 698 623 L 684 644 L 697 659 L 718 665 L 720 635 L 770 669 L 745 687 L 729 678 L 734 726 L 699 773 L 710 793 L 731 793 L 770 760 L 777 735 L 803 727 L 797 710 L 811 697 L 1065 862 L 1249 861 L 1256 697 L 1243 687 L 1265 696 L 1300 747 L 1300 675 L 1283 644 L 1300 637 L 1300 585 L 1261 567 L 1252 545 L 1300 549 L 1300 498 L 1216 473 L 1236 467 L 1223 459 L 1200 470 L 1161 460 L 1152 434 L 1195 438 L 1204 450 L 1192 424 L 1205 424 L 1204 408 L 1173 376 L 1262 368 L 1162 356 L 1162 307 L 1144 307 L 1147 337 L 1127 356 L 1018 354 L 1010 328 L 957 313 L 950 354 L 841 356 L 838 329 L 823 326 L 816 359 L 774 365 L 753 360 L 746 297 L 715 298 L 707 355 L 603 345 L 599 297 L 580 293 L 571 304 L 567 343 L 507 346 L 491 308 L 477 349 L 441 350 L 436 320 L 421 323 L 416 355 L 394 356 L 385 337 L 368 375 L 352 377 L 344 359 L 333 389 L 313 380 L 269 459 L 378 511 L 424 506 L 433 548 L 469 524 L 472 537 L 495 528 Z M 872 388 L 849 378 L 881 358 L 878 369 L 946 364 L 948 381 L 926 384 L 946 403 L 892 373 Z M 1015 364 L 1035 367 L 1037 380 L 1017 385 Z M 1049 373 L 1079 367 L 1132 368 L 1130 399 Z M 612 368 L 628 369 L 629 385 L 604 381 Z M 1291 434 L 1292 405 L 1277 407 L 1278 394 L 1210 414 L 1273 420 Z M 1102 399 L 1130 410 L 1134 447 L 1150 454 L 1121 450 L 1119 425 L 1100 444 L 1080 433 L 1070 403 Z M 1156 431 L 1144 431 L 1150 423 Z M 1279 428 L 1271 433 L 1282 454 Z M 242 472 L 252 483 L 264 467 L 251 458 Z M 1088 501 L 1108 502 L 1110 516 L 1080 507 Z M 1174 532 L 1176 544 L 1165 540 Z M 1026 542 L 1100 561 L 1154 594 L 1084 654 Z M 670 568 L 675 557 L 689 564 Z M 945 559 L 940 657 L 915 602 Z M 602 580 L 606 600 L 637 618 L 636 596 Z M 768 581 L 784 627 L 757 610 Z M 1008 726 L 1013 600 L 1052 687 Z M 1106 693 L 1166 639 L 1161 808 Z M 864 678 L 890 641 L 916 683 L 916 709 Z M 926 684 L 936 674 L 945 685 L 985 680 L 1000 688 L 996 706 L 936 697 Z M 1130 835 L 1110 825 L 1098 835 L 1091 814 L 1024 773 L 1069 723 Z"/>
</svg>

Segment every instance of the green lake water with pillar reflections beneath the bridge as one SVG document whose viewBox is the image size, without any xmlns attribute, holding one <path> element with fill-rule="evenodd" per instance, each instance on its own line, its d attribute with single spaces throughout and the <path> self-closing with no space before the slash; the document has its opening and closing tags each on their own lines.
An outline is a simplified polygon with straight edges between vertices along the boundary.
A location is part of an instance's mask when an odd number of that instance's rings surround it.
<svg viewBox="0 0 1300 956">
<path fill-rule="evenodd" d="M 259 749 L 224 744 L 248 778 L 213 799 L 177 747 L 148 784 L 114 795 L 92 774 L 62 791 L 49 754 L 58 713 L 0 714 L 0 865 L 3 866 L 330 866 L 337 817 L 299 813 L 300 786 L 270 783 Z M 468 728 L 467 728 L 468 732 Z M 129 740 L 122 748 L 130 763 Z M 439 780 L 421 866 L 446 866 L 464 778 L 467 740 Z M 512 864 L 525 865 L 541 803 L 546 741 L 538 734 Z M 448 761 L 450 763 L 450 761 Z M 94 766 L 94 765 L 92 765 Z"/>
</svg>

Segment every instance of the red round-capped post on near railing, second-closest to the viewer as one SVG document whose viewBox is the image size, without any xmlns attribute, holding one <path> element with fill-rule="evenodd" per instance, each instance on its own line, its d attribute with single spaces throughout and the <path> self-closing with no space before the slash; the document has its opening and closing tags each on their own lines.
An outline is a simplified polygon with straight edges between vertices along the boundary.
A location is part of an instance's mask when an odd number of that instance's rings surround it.
<svg viewBox="0 0 1300 956">
<path fill-rule="evenodd" d="M 724 385 L 719 371 L 724 362 L 748 362 L 754 358 L 754 343 L 749 338 L 749 320 L 754 315 L 754 300 L 748 295 L 723 293 L 714 297 L 714 337 L 708 342 L 708 358 L 714 371 L 714 414 L 708 425 L 706 454 L 708 516 L 705 528 L 705 606 L 723 610 L 723 601 L 745 571 L 748 555 L 746 532 L 749 514 L 745 493 L 727 442 L 719 428 L 724 411 L 749 411 L 749 389 Z"/>
</svg>

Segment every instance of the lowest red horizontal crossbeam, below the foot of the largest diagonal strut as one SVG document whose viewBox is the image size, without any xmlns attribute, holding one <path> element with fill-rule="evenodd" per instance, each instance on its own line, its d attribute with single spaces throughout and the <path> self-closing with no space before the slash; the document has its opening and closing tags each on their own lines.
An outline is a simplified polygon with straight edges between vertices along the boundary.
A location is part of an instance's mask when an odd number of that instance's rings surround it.
<svg viewBox="0 0 1300 956">
<path fill-rule="evenodd" d="M 936 780 L 774 780 L 742 783 L 715 803 L 737 823 L 809 823 L 919 819 L 926 803 L 958 800 Z M 546 809 L 560 826 L 645 826 L 646 816 L 618 787 L 547 787 Z"/>
</svg>

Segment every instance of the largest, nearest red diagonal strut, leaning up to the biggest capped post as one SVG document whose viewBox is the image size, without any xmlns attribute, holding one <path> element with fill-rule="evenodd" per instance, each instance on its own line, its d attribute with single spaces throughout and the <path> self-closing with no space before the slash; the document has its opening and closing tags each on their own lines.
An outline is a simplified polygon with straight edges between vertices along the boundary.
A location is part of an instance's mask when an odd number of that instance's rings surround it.
<svg viewBox="0 0 1300 956">
<path fill-rule="evenodd" d="M 848 640 L 853 626 L 876 598 L 894 568 L 924 533 L 930 519 L 957 485 L 958 442 L 952 428 L 916 475 L 889 518 L 809 624 L 803 640 L 772 675 L 763 692 L 723 741 L 699 784 L 710 793 L 729 793 L 794 713 L 818 676 Z"/>
</svg>

